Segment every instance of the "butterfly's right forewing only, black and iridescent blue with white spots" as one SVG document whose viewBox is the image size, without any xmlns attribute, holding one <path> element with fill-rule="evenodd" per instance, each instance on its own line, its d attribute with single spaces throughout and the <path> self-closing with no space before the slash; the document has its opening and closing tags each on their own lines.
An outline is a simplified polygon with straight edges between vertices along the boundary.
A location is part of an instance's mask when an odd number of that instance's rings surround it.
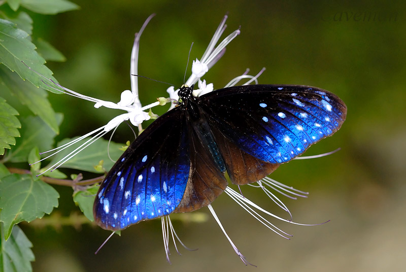
<svg viewBox="0 0 406 272">
<path fill-rule="evenodd" d="M 199 105 L 217 135 L 216 141 L 225 141 L 220 145 L 222 153 L 224 145 L 230 145 L 244 152 L 243 157 L 249 155 L 265 166 L 299 156 L 337 131 L 347 114 L 344 102 L 336 95 L 299 85 L 224 88 L 202 95 Z M 229 172 L 235 165 L 227 166 Z"/>
</svg>

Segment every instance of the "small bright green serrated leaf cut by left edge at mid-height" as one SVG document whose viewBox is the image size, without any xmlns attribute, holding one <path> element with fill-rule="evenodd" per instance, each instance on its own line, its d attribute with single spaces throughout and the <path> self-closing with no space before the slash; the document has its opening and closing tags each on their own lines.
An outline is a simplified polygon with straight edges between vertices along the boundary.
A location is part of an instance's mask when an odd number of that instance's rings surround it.
<svg viewBox="0 0 406 272">
<path fill-rule="evenodd" d="M 0 155 L 4 155 L 5 148 L 16 144 L 15 137 L 20 137 L 17 128 L 21 128 L 21 124 L 15 115 L 18 112 L 0 97 Z"/>
</svg>

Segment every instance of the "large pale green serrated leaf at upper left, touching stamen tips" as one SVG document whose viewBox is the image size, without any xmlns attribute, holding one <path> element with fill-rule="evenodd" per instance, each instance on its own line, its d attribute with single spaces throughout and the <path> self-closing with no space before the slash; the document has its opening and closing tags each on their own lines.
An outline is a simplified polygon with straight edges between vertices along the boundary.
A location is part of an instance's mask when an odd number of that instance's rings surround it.
<svg viewBox="0 0 406 272">
<path fill-rule="evenodd" d="M 48 85 L 42 82 L 45 78 L 51 78 L 54 82 L 56 82 L 56 79 L 52 77 L 52 71 L 44 65 L 45 59 L 35 49 L 36 46 L 30 42 L 27 32 L 17 28 L 10 21 L 0 19 L 0 62 L 11 71 L 15 71 L 22 79 L 27 79 L 33 85 L 51 92 L 60 93 L 48 86 L 58 88 L 49 80 Z M 44 76 L 44 78 L 28 69 L 27 66 Z"/>
</svg>

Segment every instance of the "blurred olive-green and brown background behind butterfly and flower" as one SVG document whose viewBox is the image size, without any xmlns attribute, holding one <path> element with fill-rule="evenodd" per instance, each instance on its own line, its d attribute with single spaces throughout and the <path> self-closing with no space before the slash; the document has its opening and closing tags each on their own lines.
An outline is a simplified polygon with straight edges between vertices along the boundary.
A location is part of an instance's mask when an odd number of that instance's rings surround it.
<svg viewBox="0 0 406 272">
<path fill-rule="evenodd" d="M 59 82 L 82 94 L 118 101 L 129 89 L 129 58 L 134 33 L 156 13 L 140 46 L 139 74 L 182 84 L 191 42 L 191 59 L 201 57 L 224 14 L 225 34 L 241 26 L 241 35 L 204 77 L 221 88 L 247 67 L 263 66 L 263 84 L 313 85 L 339 95 L 348 106 L 347 121 L 333 137 L 307 155 L 341 147 L 331 156 L 296 160 L 272 177 L 309 191 L 307 199 L 281 196 L 296 226 L 273 220 L 294 234 L 286 241 L 265 228 L 225 194 L 213 207 L 231 239 L 248 261 L 245 267 L 208 214 L 202 223 L 174 220 L 182 241 L 197 251 L 171 248 L 165 260 L 160 221 L 142 222 L 114 236 L 98 227 L 37 228 L 22 225 L 33 243 L 34 271 L 399 271 L 406 264 L 406 4 L 402 1 L 76 1 L 81 10 L 57 16 L 32 15 L 34 33 L 59 49 L 65 63 L 48 63 Z M 355 13 L 376 13 L 380 20 L 354 20 Z M 342 17 L 340 18 L 340 14 Z M 346 14 L 352 16 L 347 19 Z M 390 17 L 391 16 L 391 17 Z M 391 20 L 389 20 L 389 17 Z M 386 19 L 385 19 L 386 18 Z M 190 66 L 189 66 L 190 67 Z M 190 70 L 189 70 L 190 71 Z M 166 85 L 140 79 L 144 105 L 166 96 Z M 82 135 L 108 122 L 117 112 L 96 110 L 91 103 L 50 94 L 55 111 L 64 114 L 59 139 Z M 74 107 L 73 107 L 74 105 Z M 164 107 L 154 112 L 162 114 Z M 122 125 L 113 140 L 132 141 Z M 58 187 L 57 209 L 77 210 L 72 189 Z M 269 211 L 278 208 L 259 190 L 246 196 Z"/>
</svg>

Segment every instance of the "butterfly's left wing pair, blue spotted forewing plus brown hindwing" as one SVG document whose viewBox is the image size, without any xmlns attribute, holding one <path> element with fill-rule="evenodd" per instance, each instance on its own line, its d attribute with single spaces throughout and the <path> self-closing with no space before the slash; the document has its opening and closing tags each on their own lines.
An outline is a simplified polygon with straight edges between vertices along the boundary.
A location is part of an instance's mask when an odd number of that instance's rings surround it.
<svg viewBox="0 0 406 272">
<path fill-rule="evenodd" d="M 209 205 L 227 181 L 181 107 L 159 117 L 128 147 L 101 183 L 96 223 L 119 230 Z"/>
</svg>

